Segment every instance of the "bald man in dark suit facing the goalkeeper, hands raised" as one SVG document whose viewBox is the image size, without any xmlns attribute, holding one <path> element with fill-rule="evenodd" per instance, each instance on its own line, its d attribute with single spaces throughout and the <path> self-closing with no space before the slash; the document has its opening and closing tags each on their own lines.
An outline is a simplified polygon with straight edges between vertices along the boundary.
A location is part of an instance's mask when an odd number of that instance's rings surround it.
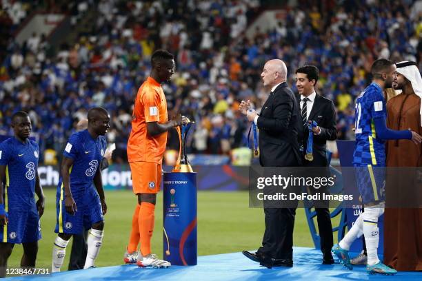
<svg viewBox="0 0 422 281">
<path fill-rule="evenodd" d="M 299 104 L 288 87 L 287 67 L 279 59 L 265 63 L 261 74 L 264 87 L 271 89 L 261 114 L 241 102 L 239 110 L 259 128 L 259 162 L 263 167 L 297 167 L 301 160 L 297 127 L 301 122 Z M 271 268 L 293 266 L 293 226 L 296 208 L 265 207 L 265 233 L 256 253 L 242 253 Z"/>
</svg>

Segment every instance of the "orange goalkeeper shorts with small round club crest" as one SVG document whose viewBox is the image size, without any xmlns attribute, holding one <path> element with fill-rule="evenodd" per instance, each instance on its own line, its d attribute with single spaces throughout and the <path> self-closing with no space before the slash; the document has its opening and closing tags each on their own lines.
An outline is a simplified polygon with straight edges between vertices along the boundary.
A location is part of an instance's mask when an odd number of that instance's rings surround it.
<svg viewBox="0 0 422 281">
<path fill-rule="evenodd" d="M 161 164 L 130 162 L 134 194 L 157 194 L 161 185 Z"/>
</svg>

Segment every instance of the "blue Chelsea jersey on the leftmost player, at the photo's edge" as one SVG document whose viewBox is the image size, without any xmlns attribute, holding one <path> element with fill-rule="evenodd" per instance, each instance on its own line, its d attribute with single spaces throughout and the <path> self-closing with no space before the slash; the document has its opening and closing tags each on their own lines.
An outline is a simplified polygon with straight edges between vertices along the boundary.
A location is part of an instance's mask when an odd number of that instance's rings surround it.
<svg viewBox="0 0 422 281">
<path fill-rule="evenodd" d="M 21 143 L 12 137 L 0 143 L 0 165 L 6 166 L 3 191 L 6 211 L 36 208 L 34 196 L 38 159 L 39 146 L 30 139 Z"/>
</svg>

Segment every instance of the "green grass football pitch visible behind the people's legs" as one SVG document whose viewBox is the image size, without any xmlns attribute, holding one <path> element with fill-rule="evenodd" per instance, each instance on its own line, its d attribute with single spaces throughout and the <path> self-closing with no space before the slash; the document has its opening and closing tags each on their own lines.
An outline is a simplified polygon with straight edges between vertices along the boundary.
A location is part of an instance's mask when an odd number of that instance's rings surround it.
<svg viewBox="0 0 422 281">
<path fill-rule="evenodd" d="M 46 189 L 46 210 L 41 218 L 43 238 L 39 241 L 37 267 L 51 267 L 52 245 L 57 234 L 56 191 Z M 132 191 L 106 191 L 106 214 L 103 246 L 96 261 L 97 267 L 122 264 L 123 253 L 132 227 L 132 214 L 136 198 Z M 163 256 L 163 198 L 160 193 L 155 210 L 155 229 L 152 251 Z M 257 249 L 262 240 L 263 209 L 248 207 L 247 191 L 199 191 L 198 192 L 198 255 L 239 252 Z M 336 222 L 333 221 L 333 225 Z M 334 237 L 334 240 L 336 238 Z M 297 209 L 294 222 L 294 245 L 313 247 L 305 211 Z M 62 271 L 67 270 L 71 242 L 66 251 Z M 8 267 L 19 267 L 22 247 L 17 244 L 8 261 Z"/>
</svg>

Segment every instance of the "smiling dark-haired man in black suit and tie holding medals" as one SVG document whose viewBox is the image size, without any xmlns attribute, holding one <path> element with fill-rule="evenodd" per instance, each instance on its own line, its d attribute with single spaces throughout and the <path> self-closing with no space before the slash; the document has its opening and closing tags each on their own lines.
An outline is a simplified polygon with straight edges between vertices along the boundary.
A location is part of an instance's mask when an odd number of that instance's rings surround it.
<svg viewBox="0 0 422 281">
<path fill-rule="evenodd" d="M 303 156 L 308 145 L 308 123 L 311 121 L 316 121 L 317 123 L 317 127 L 312 129 L 313 160 L 309 161 L 303 157 L 303 166 L 305 167 L 328 167 L 326 143 L 327 141 L 334 141 L 337 138 L 334 104 L 330 99 L 316 94 L 314 89 L 318 81 L 318 76 L 319 70 L 314 65 L 303 65 L 303 67 L 299 67 L 296 70 L 296 86 L 299 91 L 297 101 L 301 107 L 302 119 L 298 131 L 299 143 L 303 143 L 303 149 L 301 149 Z M 328 191 L 320 189 L 319 192 L 327 193 Z M 328 202 L 323 203 L 323 205 L 328 205 Z M 330 211 L 325 206 L 323 208 L 316 207 L 315 210 L 319 236 L 321 237 L 323 264 L 333 264 L 334 260 L 331 255 L 333 242 Z"/>
</svg>

